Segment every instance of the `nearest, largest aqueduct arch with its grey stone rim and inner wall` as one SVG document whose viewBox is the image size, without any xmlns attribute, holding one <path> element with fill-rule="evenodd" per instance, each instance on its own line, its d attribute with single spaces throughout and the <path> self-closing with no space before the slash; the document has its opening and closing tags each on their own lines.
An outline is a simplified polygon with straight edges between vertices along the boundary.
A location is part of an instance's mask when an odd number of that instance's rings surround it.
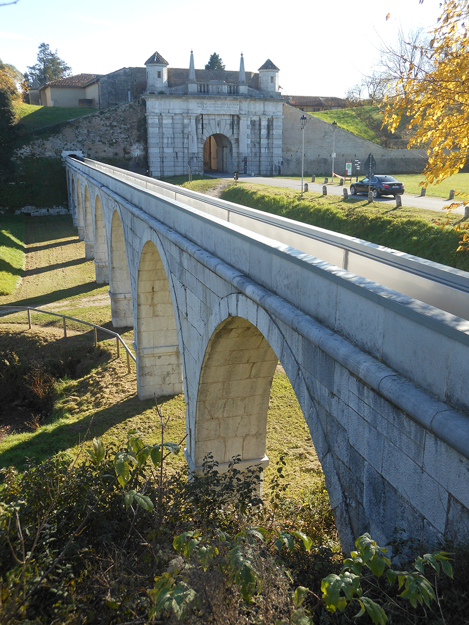
<svg viewBox="0 0 469 625">
<path fill-rule="evenodd" d="M 250 334 L 253 337 L 251 343 L 253 347 L 246 344 L 243 349 L 243 339 Z M 275 366 L 280 360 L 295 391 L 324 472 L 341 545 L 350 551 L 358 535 L 358 526 L 331 452 L 330 439 L 334 440 L 335 434 L 333 431 L 326 432 L 323 429 L 316 401 L 311 395 L 310 381 L 295 356 L 303 350 L 304 339 L 296 335 L 292 338 L 295 345 L 291 346 L 287 341 L 287 335 L 286 328 L 280 327 L 263 307 L 246 296 L 231 294 L 219 302 L 206 325 L 203 337 L 206 349 L 198 387 L 195 381 L 196 396 L 188 393 L 188 439 L 184 455 L 192 470 L 201 467 L 198 462 L 207 451 L 213 453 L 214 459 L 223 470 L 224 462 L 231 460 L 236 452 L 241 454 L 241 449 L 243 458 L 241 467 L 252 464 L 266 466 L 268 464 L 268 458 L 265 456 L 266 416 L 271 381 Z M 253 351 L 250 353 L 249 349 Z M 233 365 L 236 367 L 232 372 L 230 367 Z M 230 384 L 232 377 L 233 380 L 235 377 L 239 379 Z M 256 394 L 246 396 L 249 399 L 243 406 L 246 388 Z M 320 392 L 317 389 L 316 391 Z M 218 412 L 215 412 L 215 409 L 218 409 Z M 245 414 L 236 414 L 236 411 L 243 409 Z M 256 415 L 254 423 L 243 422 L 243 427 L 247 425 L 249 431 L 253 431 L 255 425 L 258 427 L 258 431 L 248 435 L 253 437 L 250 442 L 243 434 L 241 418 L 250 417 L 251 413 Z M 238 424 L 239 431 L 236 430 Z"/>
</svg>

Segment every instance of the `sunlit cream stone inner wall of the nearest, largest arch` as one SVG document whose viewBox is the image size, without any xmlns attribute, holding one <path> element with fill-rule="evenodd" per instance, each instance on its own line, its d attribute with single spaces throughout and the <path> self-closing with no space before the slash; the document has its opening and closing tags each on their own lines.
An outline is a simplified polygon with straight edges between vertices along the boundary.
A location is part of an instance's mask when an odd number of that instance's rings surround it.
<svg viewBox="0 0 469 625">
<path fill-rule="evenodd" d="M 278 357 L 247 319 L 227 317 L 209 339 L 199 379 L 195 466 L 211 452 L 220 464 L 267 464 L 266 426 Z"/>
</svg>

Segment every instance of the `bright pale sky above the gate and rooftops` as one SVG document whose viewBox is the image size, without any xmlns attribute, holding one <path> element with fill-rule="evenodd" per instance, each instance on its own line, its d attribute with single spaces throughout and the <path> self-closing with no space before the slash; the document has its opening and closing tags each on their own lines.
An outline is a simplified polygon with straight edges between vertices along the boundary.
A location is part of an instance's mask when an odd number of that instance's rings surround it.
<svg viewBox="0 0 469 625">
<path fill-rule="evenodd" d="M 238 69 L 243 51 L 249 71 L 270 58 L 287 94 L 341 97 L 370 71 L 380 39 L 439 14 L 435 0 L 19 0 L 0 8 L 0 58 L 24 72 L 45 41 L 74 74 L 105 74 L 143 66 L 156 50 L 186 68 L 191 47 L 196 68 L 216 51 Z"/>
</svg>

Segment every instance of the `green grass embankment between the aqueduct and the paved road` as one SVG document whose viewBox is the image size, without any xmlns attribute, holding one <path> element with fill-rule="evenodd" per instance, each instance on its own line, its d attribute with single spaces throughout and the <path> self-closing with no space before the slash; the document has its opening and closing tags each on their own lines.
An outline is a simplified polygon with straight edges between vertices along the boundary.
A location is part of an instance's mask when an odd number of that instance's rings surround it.
<svg viewBox="0 0 469 625">
<path fill-rule="evenodd" d="M 263 184 L 238 184 L 223 192 L 223 199 L 261 211 L 295 219 L 342 234 L 398 249 L 431 261 L 469 271 L 469 255 L 455 252 L 458 232 L 441 230 L 432 220 L 441 214 L 402 207 L 367 204 L 366 199 L 320 196 Z M 456 219 L 456 218 L 455 218 Z"/>
</svg>

